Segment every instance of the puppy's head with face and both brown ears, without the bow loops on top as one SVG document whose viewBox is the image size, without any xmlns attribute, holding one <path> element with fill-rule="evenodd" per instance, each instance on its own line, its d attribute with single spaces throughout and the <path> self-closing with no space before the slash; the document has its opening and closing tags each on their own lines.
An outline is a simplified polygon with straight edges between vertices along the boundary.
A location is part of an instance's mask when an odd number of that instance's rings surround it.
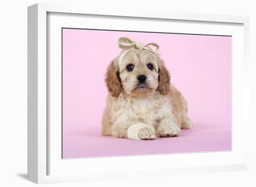
<svg viewBox="0 0 256 187">
<path fill-rule="evenodd" d="M 108 92 L 118 97 L 121 92 L 142 97 L 159 91 L 170 90 L 170 74 L 162 59 L 153 52 L 131 48 L 123 50 L 108 66 L 105 82 Z"/>
</svg>

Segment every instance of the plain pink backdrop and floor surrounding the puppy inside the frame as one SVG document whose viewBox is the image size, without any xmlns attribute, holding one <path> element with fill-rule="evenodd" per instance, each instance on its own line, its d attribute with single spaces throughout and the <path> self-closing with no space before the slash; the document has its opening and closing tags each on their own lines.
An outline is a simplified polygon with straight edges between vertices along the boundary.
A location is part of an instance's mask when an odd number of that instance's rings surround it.
<svg viewBox="0 0 256 187">
<path fill-rule="evenodd" d="M 127 36 L 160 45 L 194 129 L 134 141 L 101 136 L 104 74 Z M 63 29 L 63 158 L 231 150 L 231 37 Z"/>
</svg>

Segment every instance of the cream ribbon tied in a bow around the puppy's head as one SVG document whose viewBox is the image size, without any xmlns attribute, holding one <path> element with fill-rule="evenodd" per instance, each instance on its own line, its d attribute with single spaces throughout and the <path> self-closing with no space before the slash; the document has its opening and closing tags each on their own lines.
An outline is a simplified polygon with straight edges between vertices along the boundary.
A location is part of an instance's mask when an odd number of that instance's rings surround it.
<svg viewBox="0 0 256 187">
<path fill-rule="evenodd" d="M 140 42 L 136 42 L 136 41 L 134 41 L 132 39 L 129 39 L 128 37 L 121 37 L 121 38 L 119 38 L 117 43 L 119 45 L 119 48 L 126 50 L 119 57 L 119 60 L 118 60 L 119 66 L 121 65 L 121 61 L 122 61 L 124 55 L 128 51 L 130 51 L 132 49 L 146 50 L 146 51 L 152 53 L 154 58 L 155 58 L 155 60 L 156 60 L 156 62 L 157 62 L 157 59 L 155 57 L 155 53 L 159 51 L 159 45 L 156 44 L 156 43 L 148 43 L 148 44 L 144 45 L 144 44 L 142 44 Z M 152 50 L 151 48 L 149 48 L 149 45 L 155 46 L 156 49 Z"/>
</svg>

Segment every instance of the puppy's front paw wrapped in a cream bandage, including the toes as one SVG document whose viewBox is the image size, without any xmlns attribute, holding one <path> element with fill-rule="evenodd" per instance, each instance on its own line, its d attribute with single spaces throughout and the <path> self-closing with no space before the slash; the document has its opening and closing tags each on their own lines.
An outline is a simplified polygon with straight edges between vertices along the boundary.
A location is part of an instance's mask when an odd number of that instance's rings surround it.
<svg viewBox="0 0 256 187">
<path fill-rule="evenodd" d="M 155 137 L 155 128 L 145 123 L 135 123 L 128 128 L 129 139 L 151 140 Z"/>
</svg>

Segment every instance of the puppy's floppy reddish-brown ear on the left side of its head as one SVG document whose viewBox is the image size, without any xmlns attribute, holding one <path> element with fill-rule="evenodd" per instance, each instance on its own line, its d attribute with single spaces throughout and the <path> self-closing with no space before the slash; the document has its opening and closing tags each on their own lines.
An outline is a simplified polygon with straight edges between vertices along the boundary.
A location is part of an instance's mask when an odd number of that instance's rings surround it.
<svg viewBox="0 0 256 187">
<path fill-rule="evenodd" d="M 108 65 L 107 73 L 105 74 L 105 83 L 108 87 L 108 92 L 113 97 L 118 97 L 121 93 L 122 84 L 119 77 L 119 65 L 116 58 Z"/>
</svg>

